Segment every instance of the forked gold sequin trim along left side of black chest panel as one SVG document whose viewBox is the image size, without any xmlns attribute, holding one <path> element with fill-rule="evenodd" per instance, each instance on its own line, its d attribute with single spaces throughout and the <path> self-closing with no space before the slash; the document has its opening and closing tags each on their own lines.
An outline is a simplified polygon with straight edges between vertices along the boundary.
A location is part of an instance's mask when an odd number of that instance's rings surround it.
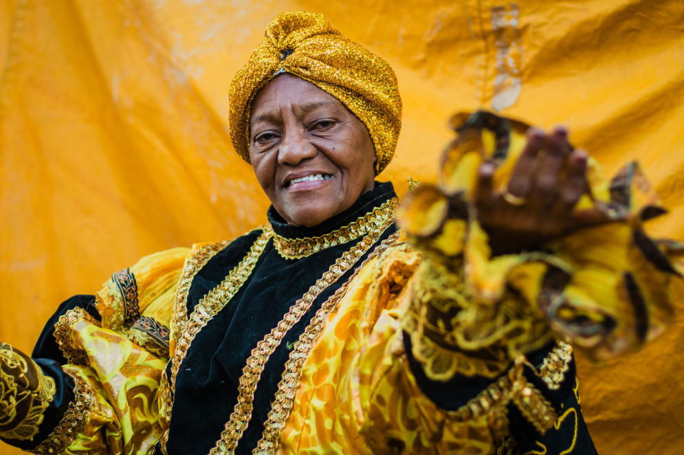
<svg viewBox="0 0 684 455">
<path fill-rule="evenodd" d="M 170 384 L 166 377 L 166 370 L 162 372 L 161 393 L 164 400 L 164 415 L 162 416 L 166 421 L 170 420 L 171 410 L 173 408 L 173 399 L 171 394 L 175 390 L 176 377 L 180 368 L 181 362 L 185 359 L 192 340 L 195 340 L 197 333 L 203 329 L 204 326 L 216 315 L 235 293 L 245 284 L 247 278 L 250 277 L 254 266 L 259 257 L 263 253 L 266 244 L 273 235 L 271 228 L 263 228 L 261 235 L 254 241 L 252 248 L 247 255 L 240 261 L 234 269 L 230 271 L 228 276 L 219 284 L 209 291 L 206 296 L 199 300 L 195 311 L 192 311 L 190 318 L 187 314 L 187 299 L 188 291 L 190 290 L 190 283 L 197 272 L 209 262 L 221 249 L 228 246 L 228 243 L 214 243 L 203 247 L 196 254 L 194 254 L 186 263 L 183 274 L 181 275 L 179 285 L 177 287 L 174 307 L 174 339 L 177 342 L 173 359 L 171 359 L 171 379 Z M 168 442 L 168 430 L 162 436 L 162 451 L 166 453 L 166 443 Z"/>
</svg>

